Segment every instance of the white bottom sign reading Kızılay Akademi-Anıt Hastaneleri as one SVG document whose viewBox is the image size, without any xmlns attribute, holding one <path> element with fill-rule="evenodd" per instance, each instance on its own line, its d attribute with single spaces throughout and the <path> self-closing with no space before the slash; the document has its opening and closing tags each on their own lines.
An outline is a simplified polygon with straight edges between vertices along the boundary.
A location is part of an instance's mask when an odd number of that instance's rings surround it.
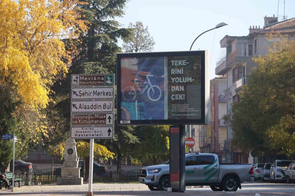
<svg viewBox="0 0 295 196">
<path fill-rule="evenodd" d="M 114 138 L 114 126 L 109 127 L 71 127 L 73 139 L 110 139 Z"/>
</svg>

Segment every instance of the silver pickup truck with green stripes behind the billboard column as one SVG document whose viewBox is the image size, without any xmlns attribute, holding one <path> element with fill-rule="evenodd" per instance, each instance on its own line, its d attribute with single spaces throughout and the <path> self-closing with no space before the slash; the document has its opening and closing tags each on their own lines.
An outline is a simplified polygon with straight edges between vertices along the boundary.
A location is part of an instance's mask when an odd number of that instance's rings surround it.
<svg viewBox="0 0 295 196">
<path fill-rule="evenodd" d="M 216 154 L 190 152 L 185 154 L 186 186 L 209 185 L 213 191 L 236 191 L 242 182 L 253 182 L 253 165 L 246 163 L 219 164 Z M 167 190 L 170 186 L 169 161 L 143 167 L 139 182 L 150 190 Z"/>
</svg>

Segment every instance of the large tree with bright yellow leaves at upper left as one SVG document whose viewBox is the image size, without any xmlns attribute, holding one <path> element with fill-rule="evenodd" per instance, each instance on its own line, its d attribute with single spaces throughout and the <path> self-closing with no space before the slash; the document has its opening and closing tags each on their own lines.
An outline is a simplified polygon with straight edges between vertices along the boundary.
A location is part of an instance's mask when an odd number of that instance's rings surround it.
<svg viewBox="0 0 295 196">
<path fill-rule="evenodd" d="M 6 96 L 0 102 L 6 112 L 0 134 L 19 132 L 35 141 L 37 132 L 47 135 L 40 109 L 50 102 L 50 87 L 71 64 L 63 39 L 87 29 L 78 5 L 77 0 L 0 0 L 0 91 Z M 6 157 L 1 156 L 2 165 L 11 155 Z"/>
</svg>

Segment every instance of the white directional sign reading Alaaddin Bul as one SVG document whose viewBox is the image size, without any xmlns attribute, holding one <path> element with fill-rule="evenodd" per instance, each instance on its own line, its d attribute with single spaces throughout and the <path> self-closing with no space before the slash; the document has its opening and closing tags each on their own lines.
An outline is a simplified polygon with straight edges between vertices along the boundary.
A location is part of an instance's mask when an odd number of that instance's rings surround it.
<svg viewBox="0 0 295 196">
<path fill-rule="evenodd" d="M 114 100 L 71 101 L 71 112 L 114 112 Z"/>
</svg>

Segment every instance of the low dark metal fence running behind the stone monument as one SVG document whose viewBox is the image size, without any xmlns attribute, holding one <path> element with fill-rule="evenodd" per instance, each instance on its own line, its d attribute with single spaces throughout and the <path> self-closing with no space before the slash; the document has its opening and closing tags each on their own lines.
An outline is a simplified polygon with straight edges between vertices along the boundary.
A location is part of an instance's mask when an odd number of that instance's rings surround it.
<svg viewBox="0 0 295 196">
<path fill-rule="evenodd" d="M 103 171 L 103 172 L 94 172 L 93 173 L 93 182 L 134 182 L 138 180 L 140 170 L 120 170 L 117 171 Z M 80 176 L 83 177 L 83 172 L 80 172 Z M 20 185 L 37 185 L 40 184 L 49 184 L 57 181 L 57 178 L 61 177 L 60 170 L 54 170 L 51 172 L 51 169 L 47 170 L 33 170 L 30 173 L 22 173 L 15 175 L 15 178 L 21 178 Z M 88 181 L 89 172 L 85 172 L 84 181 Z"/>
</svg>

